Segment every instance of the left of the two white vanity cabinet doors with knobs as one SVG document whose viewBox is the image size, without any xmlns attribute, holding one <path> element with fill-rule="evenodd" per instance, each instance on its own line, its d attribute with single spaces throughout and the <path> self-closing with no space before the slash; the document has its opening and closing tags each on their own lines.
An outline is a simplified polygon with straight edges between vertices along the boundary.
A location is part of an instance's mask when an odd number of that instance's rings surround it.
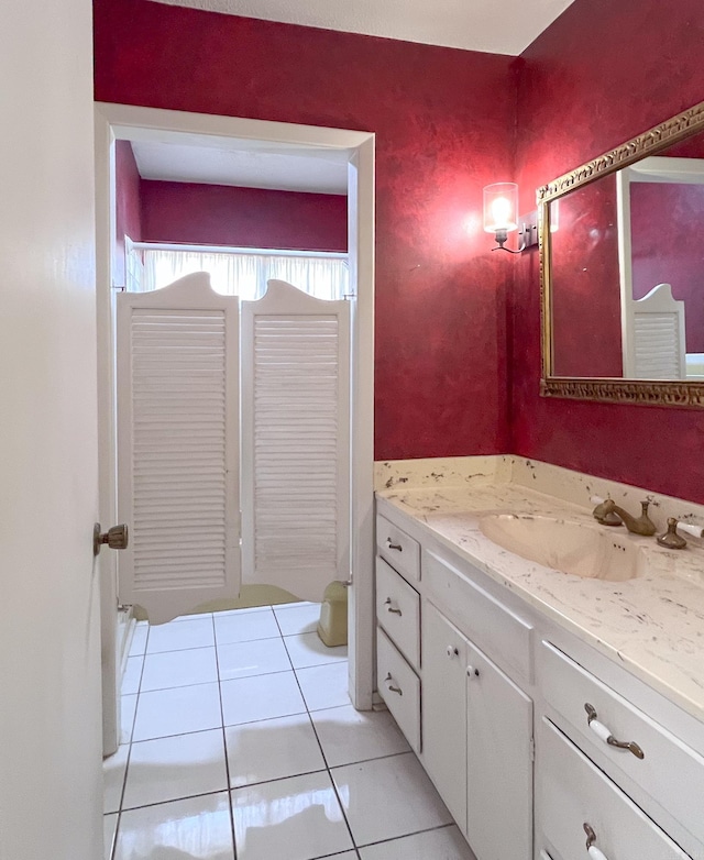
<svg viewBox="0 0 704 860">
<path fill-rule="evenodd" d="M 466 639 L 432 606 L 422 616 L 422 762 L 466 829 Z"/>
</svg>

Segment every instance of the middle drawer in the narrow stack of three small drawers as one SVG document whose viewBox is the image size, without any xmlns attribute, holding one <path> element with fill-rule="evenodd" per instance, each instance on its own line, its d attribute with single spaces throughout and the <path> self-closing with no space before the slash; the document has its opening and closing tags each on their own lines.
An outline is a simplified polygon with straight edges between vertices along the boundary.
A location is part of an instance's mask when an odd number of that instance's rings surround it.
<svg viewBox="0 0 704 860">
<path fill-rule="evenodd" d="M 420 665 L 420 595 L 376 559 L 376 618 L 414 666 Z"/>
</svg>

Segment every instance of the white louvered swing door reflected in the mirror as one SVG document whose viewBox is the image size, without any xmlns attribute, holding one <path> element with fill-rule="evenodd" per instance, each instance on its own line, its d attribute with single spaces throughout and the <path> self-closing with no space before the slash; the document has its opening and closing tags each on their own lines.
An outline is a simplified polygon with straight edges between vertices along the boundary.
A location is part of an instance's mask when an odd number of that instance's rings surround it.
<svg viewBox="0 0 704 860">
<path fill-rule="evenodd" d="M 659 284 L 632 305 L 634 365 L 637 379 L 683 379 L 684 302 Z"/>
</svg>

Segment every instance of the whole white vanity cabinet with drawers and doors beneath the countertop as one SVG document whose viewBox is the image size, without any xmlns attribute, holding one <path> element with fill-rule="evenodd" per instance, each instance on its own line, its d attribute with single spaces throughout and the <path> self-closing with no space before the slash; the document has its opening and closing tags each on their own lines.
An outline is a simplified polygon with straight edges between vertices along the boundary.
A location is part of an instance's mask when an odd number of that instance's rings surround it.
<svg viewBox="0 0 704 860">
<path fill-rule="evenodd" d="M 704 860 L 704 723 L 382 510 L 378 691 L 477 860 Z"/>
</svg>

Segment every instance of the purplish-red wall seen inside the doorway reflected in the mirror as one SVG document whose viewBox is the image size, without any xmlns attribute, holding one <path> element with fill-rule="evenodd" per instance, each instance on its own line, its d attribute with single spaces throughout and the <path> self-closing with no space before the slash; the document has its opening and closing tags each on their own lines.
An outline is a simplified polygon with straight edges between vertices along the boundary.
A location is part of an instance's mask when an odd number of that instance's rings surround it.
<svg viewBox="0 0 704 860">
<path fill-rule="evenodd" d="M 634 298 L 671 284 L 684 301 L 688 352 L 704 352 L 704 186 L 630 186 Z"/>
</svg>

